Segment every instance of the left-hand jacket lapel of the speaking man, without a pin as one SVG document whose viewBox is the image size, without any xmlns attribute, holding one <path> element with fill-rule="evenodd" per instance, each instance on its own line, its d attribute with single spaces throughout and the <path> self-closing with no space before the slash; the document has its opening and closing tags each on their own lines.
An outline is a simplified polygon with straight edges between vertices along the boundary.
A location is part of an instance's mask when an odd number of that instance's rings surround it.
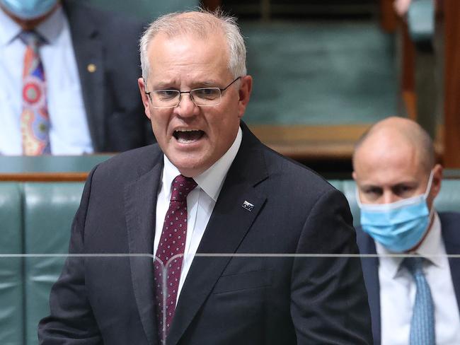
<svg viewBox="0 0 460 345">
<path fill-rule="evenodd" d="M 153 245 L 155 233 L 156 197 L 158 194 L 162 155 L 154 168 L 125 187 L 125 216 L 131 256 L 131 279 L 137 309 L 150 344 L 157 344 L 154 306 Z"/>
</svg>

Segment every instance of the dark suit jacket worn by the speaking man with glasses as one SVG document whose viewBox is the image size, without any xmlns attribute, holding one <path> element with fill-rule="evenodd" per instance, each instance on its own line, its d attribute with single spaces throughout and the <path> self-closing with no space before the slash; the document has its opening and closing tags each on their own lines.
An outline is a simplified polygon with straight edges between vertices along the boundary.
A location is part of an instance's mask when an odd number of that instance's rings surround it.
<svg viewBox="0 0 460 345">
<path fill-rule="evenodd" d="M 343 194 L 242 128 L 197 252 L 357 253 Z M 151 256 L 162 168 L 156 145 L 96 167 L 70 252 Z M 69 258 L 40 344 L 158 344 L 153 280 L 151 257 Z M 360 259 L 195 256 L 168 344 L 372 344 Z"/>
</svg>

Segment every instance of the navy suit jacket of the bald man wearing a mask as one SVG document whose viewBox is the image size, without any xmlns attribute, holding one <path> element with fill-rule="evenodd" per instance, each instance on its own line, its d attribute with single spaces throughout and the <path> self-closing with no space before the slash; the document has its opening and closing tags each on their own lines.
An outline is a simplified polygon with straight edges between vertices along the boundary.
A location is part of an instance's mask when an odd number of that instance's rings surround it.
<svg viewBox="0 0 460 345">
<path fill-rule="evenodd" d="M 460 253 L 460 214 L 454 212 L 439 213 L 441 220 L 441 233 L 447 255 Z M 362 228 L 356 229 L 358 247 L 361 254 L 376 254 L 375 242 Z M 460 302 L 460 265 L 458 259 L 449 258 L 450 273 L 457 303 Z M 374 344 L 381 344 L 381 320 L 380 320 L 380 284 L 379 284 L 379 259 L 365 257 L 362 259 L 362 271 L 369 296 L 369 307 L 372 316 L 372 334 Z"/>
</svg>

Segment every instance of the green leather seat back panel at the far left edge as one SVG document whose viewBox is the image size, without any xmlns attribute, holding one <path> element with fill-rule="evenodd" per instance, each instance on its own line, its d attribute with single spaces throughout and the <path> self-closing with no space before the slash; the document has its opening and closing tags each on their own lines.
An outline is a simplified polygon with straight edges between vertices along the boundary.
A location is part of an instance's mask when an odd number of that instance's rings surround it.
<svg viewBox="0 0 460 345">
<path fill-rule="evenodd" d="M 0 254 L 23 249 L 21 185 L 0 184 Z M 23 343 L 23 277 L 20 257 L 0 257 L 0 344 Z"/>
</svg>

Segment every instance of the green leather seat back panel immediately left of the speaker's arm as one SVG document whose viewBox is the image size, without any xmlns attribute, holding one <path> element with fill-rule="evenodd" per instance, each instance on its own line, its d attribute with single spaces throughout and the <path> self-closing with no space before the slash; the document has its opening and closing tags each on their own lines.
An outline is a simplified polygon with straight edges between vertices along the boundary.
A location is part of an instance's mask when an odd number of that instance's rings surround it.
<svg viewBox="0 0 460 345">
<path fill-rule="evenodd" d="M 66 254 L 71 221 L 79 206 L 83 182 L 25 183 L 24 252 Z M 24 263 L 26 344 L 37 344 L 37 324 L 49 314 L 52 283 L 65 257 L 27 257 Z"/>
</svg>

